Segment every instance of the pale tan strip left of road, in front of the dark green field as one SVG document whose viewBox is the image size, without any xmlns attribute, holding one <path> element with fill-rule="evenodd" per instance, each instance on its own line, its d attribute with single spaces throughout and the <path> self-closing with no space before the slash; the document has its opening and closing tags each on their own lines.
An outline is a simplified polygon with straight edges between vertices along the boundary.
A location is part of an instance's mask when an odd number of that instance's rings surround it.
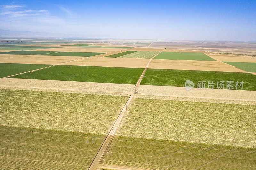
<svg viewBox="0 0 256 170">
<path fill-rule="evenodd" d="M 94 83 L 78 81 L 59 81 L 59 80 L 37 80 L 22 78 L 3 78 L 0 79 L 0 87 L 14 88 L 19 90 L 47 90 L 47 91 L 95 91 L 95 92 L 115 92 L 130 93 L 134 85 L 114 84 L 114 83 Z"/>
</svg>

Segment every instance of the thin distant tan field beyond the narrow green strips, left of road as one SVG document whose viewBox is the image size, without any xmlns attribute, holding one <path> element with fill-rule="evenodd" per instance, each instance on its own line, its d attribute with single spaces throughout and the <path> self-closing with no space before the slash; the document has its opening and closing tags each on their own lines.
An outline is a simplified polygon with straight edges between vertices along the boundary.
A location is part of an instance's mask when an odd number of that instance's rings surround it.
<svg viewBox="0 0 256 170">
<path fill-rule="evenodd" d="M 60 51 L 60 52 L 96 52 L 96 53 L 110 53 L 115 51 L 125 50 L 124 48 L 83 48 L 83 47 L 62 47 L 62 48 L 45 48 L 35 49 L 29 51 Z"/>
</svg>

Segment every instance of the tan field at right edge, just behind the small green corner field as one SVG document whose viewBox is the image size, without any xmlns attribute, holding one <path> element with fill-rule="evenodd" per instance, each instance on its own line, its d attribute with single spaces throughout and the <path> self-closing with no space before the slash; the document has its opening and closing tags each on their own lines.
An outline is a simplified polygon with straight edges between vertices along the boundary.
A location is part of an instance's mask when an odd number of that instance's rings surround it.
<svg viewBox="0 0 256 170">
<path fill-rule="evenodd" d="M 224 61 L 224 62 L 251 62 L 256 63 L 256 57 L 249 57 L 249 56 L 235 56 L 235 55 L 211 55 L 207 54 L 217 60 Z"/>
</svg>

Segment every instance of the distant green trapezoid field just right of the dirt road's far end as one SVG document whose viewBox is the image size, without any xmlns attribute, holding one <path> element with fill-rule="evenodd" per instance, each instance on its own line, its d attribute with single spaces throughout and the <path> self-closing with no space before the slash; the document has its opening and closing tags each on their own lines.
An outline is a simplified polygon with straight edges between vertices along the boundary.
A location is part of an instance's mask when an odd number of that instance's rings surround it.
<svg viewBox="0 0 256 170">
<path fill-rule="evenodd" d="M 204 53 L 161 52 L 154 59 L 216 61 Z"/>
</svg>

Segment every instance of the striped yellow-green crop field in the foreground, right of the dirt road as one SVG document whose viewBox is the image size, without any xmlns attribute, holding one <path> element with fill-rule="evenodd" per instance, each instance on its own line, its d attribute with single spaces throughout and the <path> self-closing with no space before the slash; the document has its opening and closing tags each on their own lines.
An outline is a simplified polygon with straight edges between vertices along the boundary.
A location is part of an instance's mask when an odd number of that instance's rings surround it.
<svg viewBox="0 0 256 170">
<path fill-rule="evenodd" d="M 250 105 L 135 98 L 102 164 L 255 169 L 255 115 Z"/>
</svg>

